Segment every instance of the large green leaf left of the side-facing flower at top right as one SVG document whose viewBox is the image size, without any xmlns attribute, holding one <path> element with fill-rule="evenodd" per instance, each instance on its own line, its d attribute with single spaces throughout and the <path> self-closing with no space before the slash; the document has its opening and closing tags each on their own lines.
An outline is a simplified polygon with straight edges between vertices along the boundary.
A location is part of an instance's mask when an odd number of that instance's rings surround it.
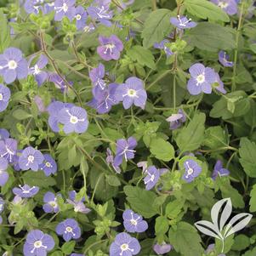
<svg viewBox="0 0 256 256">
<path fill-rule="evenodd" d="M 142 31 L 143 46 L 150 48 L 154 43 L 159 43 L 171 31 L 171 12 L 169 9 L 157 9 L 151 12 L 145 20 L 145 27 Z"/>
</svg>

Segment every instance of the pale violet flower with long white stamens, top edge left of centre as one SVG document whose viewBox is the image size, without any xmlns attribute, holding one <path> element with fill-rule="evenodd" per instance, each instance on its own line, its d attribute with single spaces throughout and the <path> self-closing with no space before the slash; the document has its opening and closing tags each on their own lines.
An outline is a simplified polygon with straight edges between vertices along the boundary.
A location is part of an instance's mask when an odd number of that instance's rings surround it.
<svg viewBox="0 0 256 256">
<path fill-rule="evenodd" d="M 105 26 L 111 26 L 113 12 L 110 11 L 110 3 L 108 0 L 94 1 L 95 5 L 88 7 L 87 12 L 93 20 L 99 21 Z"/>
</svg>

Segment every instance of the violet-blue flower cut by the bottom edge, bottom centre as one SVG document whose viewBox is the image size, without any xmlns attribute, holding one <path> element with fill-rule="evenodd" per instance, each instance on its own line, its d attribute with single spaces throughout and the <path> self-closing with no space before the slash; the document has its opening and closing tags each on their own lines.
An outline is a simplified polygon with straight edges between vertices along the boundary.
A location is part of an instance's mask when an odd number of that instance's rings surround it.
<svg viewBox="0 0 256 256">
<path fill-rule="evenodd" d="M 139 241 L 125 232 L 118 234 L 111 243 L 110 256 L 132 256 L 140 251 Z"/>
</svg>

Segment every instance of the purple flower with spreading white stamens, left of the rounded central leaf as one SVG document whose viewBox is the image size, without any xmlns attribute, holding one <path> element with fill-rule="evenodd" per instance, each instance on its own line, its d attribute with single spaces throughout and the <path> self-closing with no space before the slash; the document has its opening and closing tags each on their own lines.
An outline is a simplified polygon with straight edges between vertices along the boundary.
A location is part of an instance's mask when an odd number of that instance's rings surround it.
<svg viewBox="0 0 256 256">
<path fill-rule="evenodd" d="M 126 139 L 117 139 L 117 154 L 114 158 L 114 165 L 119 166 L 122 164 L 122 158 L 124 157 L 127 162 L 128 159 L 134 158 L 134 148 L 137 146 L 137 141 L 134 137 Z"/>
</svg>

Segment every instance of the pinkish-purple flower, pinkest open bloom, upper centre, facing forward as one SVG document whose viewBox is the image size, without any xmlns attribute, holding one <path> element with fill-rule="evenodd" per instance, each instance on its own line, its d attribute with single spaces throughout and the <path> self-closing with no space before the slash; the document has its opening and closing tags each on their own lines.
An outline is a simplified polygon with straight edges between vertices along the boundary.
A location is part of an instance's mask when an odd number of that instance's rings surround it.
<svg viewBox="0 0 256 256">
<path fill-rule="evenodd" d="M 118 60 L 120 52 L 122 52 L 122 41 L 115 35 L 111 37 L 99 37 L 100 46 L 97 48 L 97 53 L 103 60 Z"/>
</svg>

